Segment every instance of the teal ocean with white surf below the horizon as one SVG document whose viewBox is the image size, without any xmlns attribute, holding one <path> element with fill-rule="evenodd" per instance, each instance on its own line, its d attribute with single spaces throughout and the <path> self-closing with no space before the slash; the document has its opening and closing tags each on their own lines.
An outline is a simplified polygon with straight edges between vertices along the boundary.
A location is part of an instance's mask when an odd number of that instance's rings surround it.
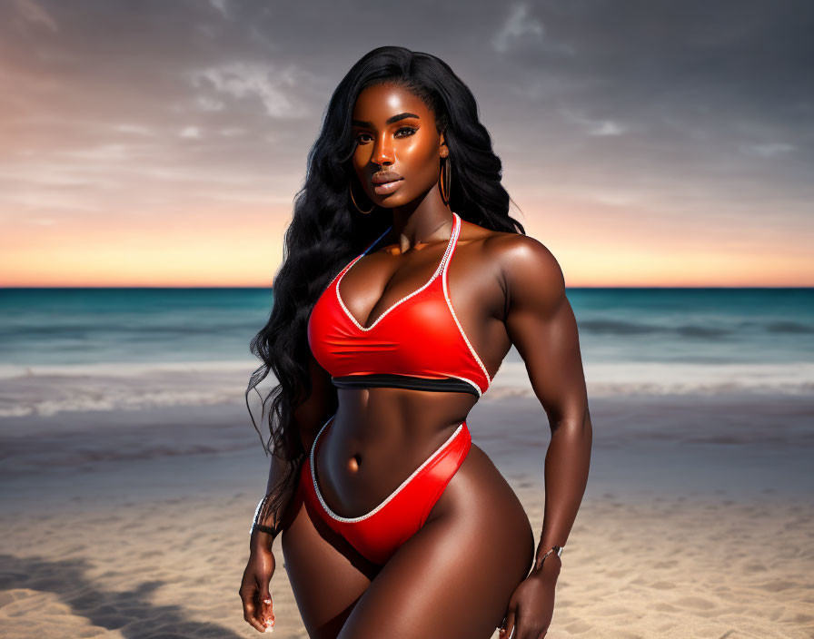
<svg viewBox="0 0 814 639">
<path fill-rule="evenodd" d="M 593 396 L 814 390 L 814 289 L 567 296 Z M 0 417 L 238 397 L 272 304 L 264 288 L 2 289 Z M 511 389 L 530 390 L 513 348 L 484 398 Z"/>
</svg>

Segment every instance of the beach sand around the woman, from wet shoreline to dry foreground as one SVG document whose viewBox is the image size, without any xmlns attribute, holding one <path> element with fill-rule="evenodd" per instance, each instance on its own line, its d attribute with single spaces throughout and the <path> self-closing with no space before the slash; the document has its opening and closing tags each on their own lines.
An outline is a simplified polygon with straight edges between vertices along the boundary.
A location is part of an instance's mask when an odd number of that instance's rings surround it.
<svg viewBox="0 0 814 639">
<path fill-rule="evenodd" d="M 592 400 L 547 636 L 814 636 L 812 403 L 740 398 L 749 421 L 724 398 Z M 539 539 L 539 402 L 487 396 L 468 424 Z M 268 460 L 244 406 L 5 418 L 0 444 L 0 635 L 258 635 L 237 590 Z M 275 555 L 272 635 L 307 636 Z"/>
</svg>

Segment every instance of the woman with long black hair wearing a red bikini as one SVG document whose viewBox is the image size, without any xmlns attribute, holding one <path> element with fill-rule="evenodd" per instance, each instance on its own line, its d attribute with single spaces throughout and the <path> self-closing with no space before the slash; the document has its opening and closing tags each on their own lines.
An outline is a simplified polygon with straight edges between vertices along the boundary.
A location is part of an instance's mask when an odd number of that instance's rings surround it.
<svg viewBox="0 0 814 639">
<path fill-rule="evenodd" d="M 508 215 L 472 93 L 432 55 L 386 46 L 355 64 L 309 167 L 252 342 L 249 390 L 269 370 L 279 385 L 244 618 L 273 625 L 282 531 L 311 637 L 543 636 L 591 450 L 560 267 Z M 511 344 L 553 433 L 536 553 L 465 423 Z"/>
</svg>

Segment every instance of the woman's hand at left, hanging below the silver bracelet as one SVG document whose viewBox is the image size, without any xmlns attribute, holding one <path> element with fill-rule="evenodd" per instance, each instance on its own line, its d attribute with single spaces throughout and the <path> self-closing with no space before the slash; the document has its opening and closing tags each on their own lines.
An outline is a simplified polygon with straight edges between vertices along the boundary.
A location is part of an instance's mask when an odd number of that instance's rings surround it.
<svg viewBox="0 0 814 639">
<path fill-rule="evenodd" d="M 270 539 L 271 537 L 263 532 L 255 531 L 252 534 L 251 554 L 238 591 L 243 601 L 243 619 L 261 633 L 272 632 L 274 626 L 269 582 L 272 580 L 276 562 Z"/>
</svg>

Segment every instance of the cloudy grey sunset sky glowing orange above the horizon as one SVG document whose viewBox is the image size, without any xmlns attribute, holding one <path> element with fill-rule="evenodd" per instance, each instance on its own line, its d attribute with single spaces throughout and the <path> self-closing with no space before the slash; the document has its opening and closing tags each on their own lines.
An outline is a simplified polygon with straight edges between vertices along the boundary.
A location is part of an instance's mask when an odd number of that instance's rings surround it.
<svg viewBox="0 0 814 639">
<path fill-rule="evenodd" d="M 807 0 L 0 0 L 0 286 L 270 285 L 382 44 L 470 87 L 567 286 L 812 286 L 812 33 Z"/>
</svg>

